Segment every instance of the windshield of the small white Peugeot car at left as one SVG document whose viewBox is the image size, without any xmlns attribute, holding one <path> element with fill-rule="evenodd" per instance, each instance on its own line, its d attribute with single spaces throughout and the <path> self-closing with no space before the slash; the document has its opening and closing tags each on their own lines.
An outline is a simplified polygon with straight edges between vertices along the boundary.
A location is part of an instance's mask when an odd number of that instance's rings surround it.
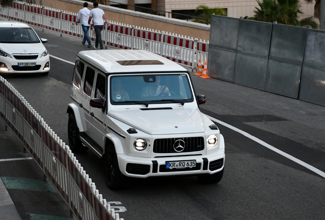
<svg viewBox="0 0 325 220">
<path fill-rule="evenodd" d="M 31 28 L 0 28 L 0 43 L 40 43 Z"/>
</svg>

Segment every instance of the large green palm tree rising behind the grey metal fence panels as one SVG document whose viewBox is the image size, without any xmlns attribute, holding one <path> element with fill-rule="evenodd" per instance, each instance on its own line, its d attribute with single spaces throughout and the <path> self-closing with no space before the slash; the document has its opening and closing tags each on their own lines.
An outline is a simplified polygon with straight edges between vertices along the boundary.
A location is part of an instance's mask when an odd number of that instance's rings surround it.
<svg viewBox="0 0 325 220">
<path fill-rule="evenodd" d="M 282 24 L 318 28 L 318 24 L 313 17 L 298 20 L 298 15 L 304 14 L 300 10 L 299 0 L 263 0 L 257 2 L 260 9 L 256 8 L 254 10 L 255 15 L 253 17 L 246 16 L 245 19 L 265 22 L 276 21 Z"/>
</svg>

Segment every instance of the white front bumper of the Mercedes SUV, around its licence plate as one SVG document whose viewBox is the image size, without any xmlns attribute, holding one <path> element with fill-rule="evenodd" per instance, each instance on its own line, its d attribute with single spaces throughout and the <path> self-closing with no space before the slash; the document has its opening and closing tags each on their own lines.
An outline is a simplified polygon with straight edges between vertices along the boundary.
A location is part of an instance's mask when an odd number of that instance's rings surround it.
<svg viewBox="0 0 325 220">
<path fill-rule="evenodd" d="M 196 160 L 196 167 L 166 169 L 166 161 Z M 147 178 L 157 176 L 215 174 L 224 167 L 224 149 L 208 155 L 189 155 L 181 157 L 140 158 L 118 154 L 120 170 L 125 176 Z"/>
</svg>

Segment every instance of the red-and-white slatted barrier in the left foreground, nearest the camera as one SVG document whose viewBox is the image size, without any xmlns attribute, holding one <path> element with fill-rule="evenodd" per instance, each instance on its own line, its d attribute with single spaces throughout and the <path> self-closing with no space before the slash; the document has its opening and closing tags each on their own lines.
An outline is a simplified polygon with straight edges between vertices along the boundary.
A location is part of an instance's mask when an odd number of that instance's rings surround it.
<svg viewBox="0 0 325 220">
<path fill-rule="evenodd" d="M 24 144 L 77 219 L 123 219 L 99 194 L 69 147 L 2 76 L 0 118 Z"/>
</svg>

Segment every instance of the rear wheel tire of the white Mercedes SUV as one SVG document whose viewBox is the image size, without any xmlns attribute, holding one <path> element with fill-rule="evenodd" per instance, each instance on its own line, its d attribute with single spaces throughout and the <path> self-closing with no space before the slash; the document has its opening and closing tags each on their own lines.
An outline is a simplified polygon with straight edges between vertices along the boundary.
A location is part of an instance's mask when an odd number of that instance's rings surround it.
<svg viewBox="0 0 325 220">
<path fill-rule="evenodd" d="M 80 141 L 79 128 L 74 114 L 69 114 L 68 120 L 69 147 L 73 152 L 84 152 L 87 150 Z"/>
</svg>

